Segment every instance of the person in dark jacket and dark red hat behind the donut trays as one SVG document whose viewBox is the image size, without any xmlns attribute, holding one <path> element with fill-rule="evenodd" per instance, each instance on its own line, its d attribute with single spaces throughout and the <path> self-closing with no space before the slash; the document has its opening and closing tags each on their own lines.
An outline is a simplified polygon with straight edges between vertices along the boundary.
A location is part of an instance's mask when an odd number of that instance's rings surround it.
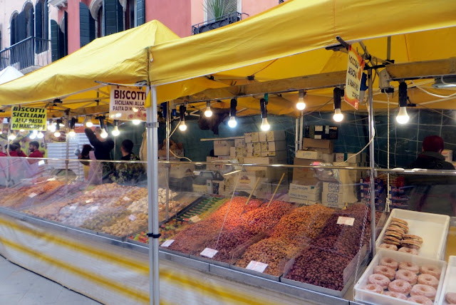
<svg viewBox="0 0 456 305">
<path fill-rule="evenodd" d="M 442 155 L 443 139 L 430 135 L 423 140 L 422 153 L 408 168 L 426 170 L 455 170 Z M 435 214 L 456 214 L 456 176 L 407 175 L 405 182 L 413 186 L 410 192 L 410 210 Z"/>
</svg>

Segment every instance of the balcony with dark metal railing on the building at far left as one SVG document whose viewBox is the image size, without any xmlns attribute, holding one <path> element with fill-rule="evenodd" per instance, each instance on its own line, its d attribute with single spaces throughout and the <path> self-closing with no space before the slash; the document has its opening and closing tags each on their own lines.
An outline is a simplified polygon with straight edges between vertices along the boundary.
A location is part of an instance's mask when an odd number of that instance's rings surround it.
<svg viewBox="0 0 456 305">
<path fill-rule="evenodd" d="M 26 74 L 51 63 L 48 39 L 28 37 L 0 51 L 0 71 L 13 66 Z"/>
</svg>

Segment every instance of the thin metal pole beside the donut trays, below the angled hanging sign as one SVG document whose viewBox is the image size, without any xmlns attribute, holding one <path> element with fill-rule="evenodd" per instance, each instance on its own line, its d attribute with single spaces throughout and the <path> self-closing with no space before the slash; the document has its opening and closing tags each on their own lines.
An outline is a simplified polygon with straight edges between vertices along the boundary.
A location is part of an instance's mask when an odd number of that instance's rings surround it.
<svg viewBox="0 0 456 305">
<path fill-rule="evenodd" d="M 373 81 L 372 81 L 372 69 L 368 70 L 368 86 L 369 86 L 369 140 L 372 139 L 374 131 L 374 119 L 373 119 Z M 375 182 L 373 176 L 373 170 L 375 166 L 374 162 L 374 141 L 371 141 L 369 145 L 369 166 L 371 167 L 371 249 L 372 256 L 375 256 Z"/>
</svg>

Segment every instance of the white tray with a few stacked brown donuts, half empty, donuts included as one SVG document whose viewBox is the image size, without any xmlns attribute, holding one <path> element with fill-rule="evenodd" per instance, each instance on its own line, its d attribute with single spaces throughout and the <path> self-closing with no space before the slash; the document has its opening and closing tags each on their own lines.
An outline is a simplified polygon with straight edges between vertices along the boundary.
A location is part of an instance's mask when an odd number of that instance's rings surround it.
<svg viewBox="0 0 456 305">
<path fill-rule="evenodd" d="M 393 209 L 375 247 L 443 259 L 449 227 L 447 215 Z"/>
</svg>

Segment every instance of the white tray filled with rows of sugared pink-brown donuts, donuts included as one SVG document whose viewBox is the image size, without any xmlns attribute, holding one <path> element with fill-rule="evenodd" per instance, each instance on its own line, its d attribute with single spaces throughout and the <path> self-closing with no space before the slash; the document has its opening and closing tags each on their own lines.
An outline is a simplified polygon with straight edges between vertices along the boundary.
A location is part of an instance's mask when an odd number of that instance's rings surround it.
<svg viewBox="0 0 456 305">
<path fill-rule="evenodd" d="M 380 249 L 355 285 L 367 304 L 439 304 L 447 263 Z"/>
</svg>

